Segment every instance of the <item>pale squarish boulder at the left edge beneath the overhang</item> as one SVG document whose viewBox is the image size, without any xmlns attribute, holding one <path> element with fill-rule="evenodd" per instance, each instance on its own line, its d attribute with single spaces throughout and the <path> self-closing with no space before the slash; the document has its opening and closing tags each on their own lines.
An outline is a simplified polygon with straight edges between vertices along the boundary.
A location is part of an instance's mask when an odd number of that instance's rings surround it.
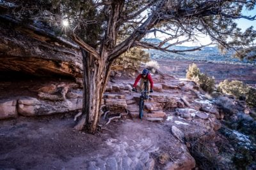
<svg viewBox="0 0 256 170">
<path fill-rule="evenodd" d="M 0 119 L 17 117 L 17 100 L 5 99 L 0 101 Z"/>
</svg>

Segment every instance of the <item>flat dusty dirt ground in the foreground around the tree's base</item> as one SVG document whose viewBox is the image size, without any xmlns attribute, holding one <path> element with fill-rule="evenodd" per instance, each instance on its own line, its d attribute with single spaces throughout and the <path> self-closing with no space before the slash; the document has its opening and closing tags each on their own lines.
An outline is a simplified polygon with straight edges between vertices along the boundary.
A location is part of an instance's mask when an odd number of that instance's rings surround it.
<svg viewBox="0 0 256 170">
<path fill-rule="evenodd" d="M 1 169 L 149 168 L 150 157 L 173 153 L 172 143 L 179 143 L 168 122 L 127 119 L 95 135 L 74 131 L 73 125 L 70 115 L 1 121 Z"/>
</svg>

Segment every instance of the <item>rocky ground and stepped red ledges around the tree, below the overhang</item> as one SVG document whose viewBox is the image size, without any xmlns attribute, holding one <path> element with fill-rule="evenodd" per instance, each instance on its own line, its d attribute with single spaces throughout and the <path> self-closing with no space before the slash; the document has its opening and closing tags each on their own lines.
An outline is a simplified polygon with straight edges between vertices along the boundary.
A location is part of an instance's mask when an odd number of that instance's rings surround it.
<svg viewBox="0 0 256 170">
<path fill-rule="evenodd" d="M 226 115 L 214 100 L 208 100 L 193 81 L 167 74 L 154 74 L 153 78 L 154 93 L 145 102 L 141 121 L 138 118 L 140 94 L 131 92 L 134 78 L 125 73 L 113 76 L 102 101 L 101 129 L 94 136 L 72 129 L 76 123 L 74 115 L 81 110 L 79 84 L 53 81 L 36 84 L 38 90 L 33 93 L 36 88 L 31 81 L 26 96 L 1 100 L 1 118 L 14 119 L 1 120 L 0 167 L 233 169 L 232 157 L 237 151 L 219 132 L 220 121 Z M 18 91 L 12 90 L 12 94 L 20 94 Z M 246 115 L 246 109 L 240 106 L 239 113 Z M 116 116 L 120 118 L 108 121 Z M 241 140 L 241 144 L 255 150 L 255 141 L 250 136 L 238 131 L 236 134 L 236 141 Z"/>
</svg>

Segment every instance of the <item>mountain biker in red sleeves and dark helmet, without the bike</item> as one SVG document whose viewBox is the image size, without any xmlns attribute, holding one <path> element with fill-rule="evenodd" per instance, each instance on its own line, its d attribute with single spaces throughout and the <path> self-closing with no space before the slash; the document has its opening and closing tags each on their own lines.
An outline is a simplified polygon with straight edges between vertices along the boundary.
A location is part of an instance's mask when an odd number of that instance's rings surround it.
<svg viewBox="0 0 256 170">
<path fill-rule="evenodd" d="M 141 80 L 140 80 L 141 79 Z M 153 80 L 152 80 L 152 77 L 148 71 L 148 69 L 143 69 L 143 71 L 141 72 L 141 74 L 139 74 L 132 86 L 132 91 L 136 91 L 136 86 L 137 86 L 137 83 L 138 81 L 140 80 L 140 89 L 144 89 L 144 81 L 147 81 L 147 91 L 149 91 L 150 93 L 153 92 Z M 150 84 L 148 83 L 148 81 L 150 82 Z M 149 92 L 147 92 L 147 98 L 148 98 L 148 95 L 149 95 Z"/>
</svg>

